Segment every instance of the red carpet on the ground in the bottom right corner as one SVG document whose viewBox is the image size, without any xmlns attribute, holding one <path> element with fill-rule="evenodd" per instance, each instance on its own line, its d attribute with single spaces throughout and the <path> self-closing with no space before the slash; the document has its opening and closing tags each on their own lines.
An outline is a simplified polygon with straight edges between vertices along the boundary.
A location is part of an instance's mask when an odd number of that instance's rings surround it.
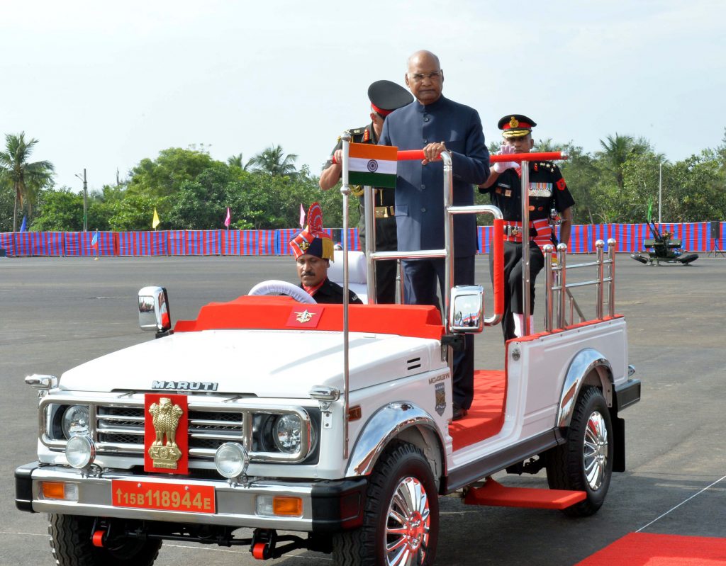
<svg viewBox="0 0 726 566">
<path fill-rule="evenodd" d="M 723 566 L 726 538 L 630 533 L 576 566 Z"/>
</svg>

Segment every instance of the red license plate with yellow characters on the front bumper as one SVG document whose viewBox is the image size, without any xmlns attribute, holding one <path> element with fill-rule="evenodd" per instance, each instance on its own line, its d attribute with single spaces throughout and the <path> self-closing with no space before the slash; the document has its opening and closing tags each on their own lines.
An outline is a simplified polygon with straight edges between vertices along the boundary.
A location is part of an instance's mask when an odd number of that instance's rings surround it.
<svg viewBox="0 0 726 566">
<path fill-rule="evenodd" d="M 190 513 L 215 512 L 214 488 L 211 485 L 111 480 L 111 491 L 115 507 Z"/>
</svg>

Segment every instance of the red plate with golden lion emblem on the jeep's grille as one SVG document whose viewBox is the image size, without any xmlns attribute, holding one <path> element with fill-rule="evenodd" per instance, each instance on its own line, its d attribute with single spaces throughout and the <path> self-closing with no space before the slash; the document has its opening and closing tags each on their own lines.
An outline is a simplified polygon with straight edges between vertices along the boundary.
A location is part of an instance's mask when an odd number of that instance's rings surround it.
<svg viewBox="0 0 726 566">
<path fill-rule="evenodd" d="M 144 471 L 187 473 L 186 395 L 146 395 Z"/>
</svg>

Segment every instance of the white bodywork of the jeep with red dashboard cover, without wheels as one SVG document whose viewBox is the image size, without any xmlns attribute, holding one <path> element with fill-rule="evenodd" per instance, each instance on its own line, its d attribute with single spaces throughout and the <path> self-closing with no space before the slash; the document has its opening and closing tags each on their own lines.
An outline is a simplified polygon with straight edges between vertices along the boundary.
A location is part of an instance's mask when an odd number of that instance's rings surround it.
<svg viewBox="0 0 726 566">
<path fill-rule="evenodd" d="M 166 303 L 155 305 L 155 314 L 164 308 Z M 134 537 L 205 540 L 213 535 L 220 544 L 235 544 L 231 532 L 239 527 L 258 529 L 245 541 L 256 557 L 282 554 L 277 530 L 309 533 L 292 547 L 330 551 L 325 533 L 345 535 L 367 524 L 370 478 L 380 475 L 393 448 L 408 446 L 414 459 L 425 462 L 426 475 L 442 495 L 503 469 L 527 472 L 523 463 L 537 456 L 541 469 L 546 455 L 568 442 L 579 399 L 589 389 L 602 395 L 606 407 L 599 412 L 614 423 L 612 438 L 605 439 L 604 450 L 610 451 L 600 454 L 608 460 L 602 471 L 609 480 L 610 470 L 624 469 L 619 412 L 639 400 L 640 382 L 631 377 L 621 316 L 508 342 L 506 369 L 497 377 L 499 416 L 486 434 L 472 439 L 476 426 L 474 432 L 450 426 L 450 335 L 435 308 L 351 305 L 345 311 L 343 305 L 317 305 L 320 325 L 309 329 L 293 321 L 308 308 L 278 297 L 213 303 L 196 321 L 180 321 L 173 333 L 89 361 L 60 380 L 28 378 L 40 390 L 38 460 L 16 470 L 18 508 L 52 517 L 92 517 L 88 530 L 94 546 L 112 554 L 113 544 L 126 548 L 123 541 Z M 144 471 L 150 446 L 144 400 L 158 393 L 187 400 L 188 414 L 182 417 L 188 421 L 187 472 Z M 92 446 L 89 462 L 76 467 L 69 465 L 63 430 L 65 411 L 73 406 L 88 408 L 84 434 Z M 298 448 L 285 452 L 266 435 L 290 415 L 299 420 L 301 433 Z M 467 440 L 461 440 L 465 434 Z M 218 472 L 214 456 L 223 443 L 244 448 L 247 462 L 239 475 Z M 213 510 L 192 504 L 181 509 L 171 500 L 164 505 L 116 499 L 121 498 L 116 488 L 129 482 L 148 493 L 155 485 L 169 493 L 205 489 Z M 430 495 L 436 499 L 436 493 Z M 275 504 L 283 500 L 298 506 L 277 512 Z M 425 503 L 432 513 L 438 509 L 433 501 Z M 420 522 L 417 515 L 407 523 L 409 530 L 420 529 Z M 86 525 L 77 521 L 73 528 L 80 524 Z M 59 522 L 55 528 L 69 527 Z M 429 540 L 422 532 L 409 536 L 411 549 Z M 129 553 L 129 564 L 142 563 Z M 153 549 L 150 562 L 143 563 L 151 564 L 152 554 Z M 62 562 L 76 563 L 81 562 Z"/>
</svg>

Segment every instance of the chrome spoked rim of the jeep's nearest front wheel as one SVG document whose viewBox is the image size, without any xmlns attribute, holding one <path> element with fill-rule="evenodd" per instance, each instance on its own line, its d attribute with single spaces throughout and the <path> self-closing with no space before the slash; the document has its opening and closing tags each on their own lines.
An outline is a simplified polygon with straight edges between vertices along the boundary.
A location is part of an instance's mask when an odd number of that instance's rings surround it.
<svg viewBox="0 0 726 566">
<path fill-rule="evenodd" d="M 386 517 L 386 564 L 423 563 L 428 548 L 431 511 L 423 484 L 404 477 L 393 491 Z"/>
</svg>

